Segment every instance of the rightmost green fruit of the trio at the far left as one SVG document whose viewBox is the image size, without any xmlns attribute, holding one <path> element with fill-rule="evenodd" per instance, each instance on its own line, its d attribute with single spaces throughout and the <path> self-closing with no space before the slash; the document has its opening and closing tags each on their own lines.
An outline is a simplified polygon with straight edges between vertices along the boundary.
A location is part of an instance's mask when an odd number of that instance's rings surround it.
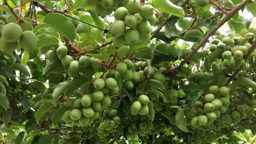
<svg viewBox="0 0 256 144">
<path fill-rule="evenodd" d="M 25 51 L 34 51 L 37 46 L 36 35 L 32 31 L 24 31 L 20 37 L 20 46 Z"/>
</svg>

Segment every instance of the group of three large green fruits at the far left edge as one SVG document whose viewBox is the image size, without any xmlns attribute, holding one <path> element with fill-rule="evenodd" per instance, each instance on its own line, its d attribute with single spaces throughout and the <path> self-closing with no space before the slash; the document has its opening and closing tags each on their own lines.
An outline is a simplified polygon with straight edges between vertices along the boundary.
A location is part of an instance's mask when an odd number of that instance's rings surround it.
<svg viewBox="0 0 256 144">
<path fill-rule="evenodd" d="M 32 31 L 23 31 L 20 25 L 8 23 L 2 27 L 2 37 L 0 38 L 0 51 L 2 53 L 12 53 L 18 44 L 25 51 L 34 51 L 37 46 L 37 37 Z"/>
</svg>

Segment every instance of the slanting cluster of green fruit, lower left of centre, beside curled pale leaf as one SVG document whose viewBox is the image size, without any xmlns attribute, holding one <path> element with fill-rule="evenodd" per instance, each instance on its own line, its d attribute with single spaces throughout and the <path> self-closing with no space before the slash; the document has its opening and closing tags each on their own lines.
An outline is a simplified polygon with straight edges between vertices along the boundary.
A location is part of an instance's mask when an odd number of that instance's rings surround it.
<svg viewBox="0 0 256 144">
<path fill-rule="evenodd" d="M 100 116 L 100 111 L 110 105 L 111 99 L 102 91 L 95 91 L 92 95 L 83 95 L 74 101 L 74 109 L 66 111 L 62 116 L 65 123 L 73 125 L 91 125 L 93 119 Z"/>
</svg>

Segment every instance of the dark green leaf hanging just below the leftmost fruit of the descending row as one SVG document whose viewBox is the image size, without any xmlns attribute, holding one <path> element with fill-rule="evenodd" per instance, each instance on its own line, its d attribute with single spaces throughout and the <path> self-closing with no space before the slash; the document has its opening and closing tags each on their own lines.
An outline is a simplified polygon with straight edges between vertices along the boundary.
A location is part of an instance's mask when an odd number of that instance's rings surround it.
<svg viewBox="0 0 256 144">
<path fill-rule="evenodd" d="M 43 75 L 48 76 L 49 74 L 59 73 L 63 67 L 64 66 L 61 63 L 61 60 L 56 60 L 56 61 L 46 60 L 46 66 L 43 69 Z"/>
</svg>

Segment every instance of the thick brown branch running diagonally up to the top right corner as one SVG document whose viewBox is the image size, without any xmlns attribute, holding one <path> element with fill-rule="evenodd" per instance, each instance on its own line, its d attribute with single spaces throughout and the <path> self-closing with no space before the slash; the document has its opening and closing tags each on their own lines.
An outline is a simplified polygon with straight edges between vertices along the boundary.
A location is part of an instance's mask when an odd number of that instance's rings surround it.
<svg viewBox="0 0 256 144">
<path fill-rule="evenodd" d="M 182 68 L 182 66 L 184 66 L 184 64 L 186 64 L 186 62 L 188 62 L 188 60 L 194 56 L 197 51 L 204 46 L 204 44 L 206 44 L 208 42 L 208 39 L 214 35 L 214 33 L 216 33 L 216 31 L 222 26 L 224 25 L 224 23 L 226 23 L 226 21 L 228 21 L 230 18 L 232 18 L 232 16 L 234 16 L 239 10 L 241 10 L 246 4 L 251 3 L 252 0 L 244 0 L 243 2 L 241 2 L 236 8 L 234 8 L 234 10 L 231 10 L 230 12 L 228 12 L 226 14 L 226 17 L 223 18 L 217 25 L 214 26 L 214 28 L 212 28 L 211 31 L 209 31 L 209 33 L 204 37 L 204 39 L 202 39 L 202 41 L 196 46 L 196 48 L 194 49 L 194 51 L 192 51 L 190 54 L 188 54 L 188 56 L 186 56 L 186 58 L 184 58 L 184 60 L 180 63 L 180 65 L 176 68 L 173 68 L 173 70 L 180 70 Z"/>
</svg>

